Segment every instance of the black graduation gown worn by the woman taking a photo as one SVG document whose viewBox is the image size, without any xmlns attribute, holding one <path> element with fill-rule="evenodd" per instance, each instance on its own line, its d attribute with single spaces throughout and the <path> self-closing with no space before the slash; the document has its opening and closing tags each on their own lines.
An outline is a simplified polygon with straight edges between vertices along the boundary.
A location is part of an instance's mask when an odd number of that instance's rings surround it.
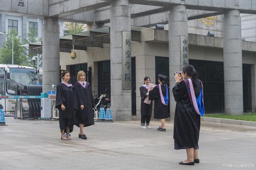
<svg viewBox="0 0 256 170">
<path fill-rule="evenodd" d="M 194 92 L 198 98 L 201 90 L 201 83 L 198 81 Z M 198 149 L 199 131 L 200 131 L 200 115 L 198 115 L 188 97 L 188 92 L 184 81 L 176 83 L 172 89 L 174 99 L 176 101 L 174 115 L 174 143 L 175 149 L 194 148 Z M 178 146 L 178 147 L 176 147 Z"/>
</svg>

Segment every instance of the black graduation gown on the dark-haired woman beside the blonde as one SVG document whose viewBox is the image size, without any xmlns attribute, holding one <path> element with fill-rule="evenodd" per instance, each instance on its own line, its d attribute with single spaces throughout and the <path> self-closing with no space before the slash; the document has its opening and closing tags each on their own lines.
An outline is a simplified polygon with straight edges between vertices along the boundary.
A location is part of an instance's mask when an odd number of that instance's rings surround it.
<svg viewBox="0 0 256 170">
<path fill-rule="evenodd" d="M 75 124 L 74 109 L 76 109 L 77 106 L 75 95 L 73 86 L 67 86 L 64 83 L 58 84 L 55 107 L 59 109 L 60 131 L 65 130 L 65 133 L 66 127 L 69 127 L 70 132 L 72 132 Z M 64 111 L 61 109 L 61 104 L 66 107 Z"/>
</svg>

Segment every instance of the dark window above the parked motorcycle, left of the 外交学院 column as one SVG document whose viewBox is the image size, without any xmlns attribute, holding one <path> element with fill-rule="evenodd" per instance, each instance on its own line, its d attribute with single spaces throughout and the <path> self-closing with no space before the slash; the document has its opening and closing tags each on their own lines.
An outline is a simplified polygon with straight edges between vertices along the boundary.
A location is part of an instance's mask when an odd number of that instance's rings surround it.
<svg viewBox="0 0 256 170">
<path fill-rule="evenodd" d="M 103 94 L 106 88 L 108 89 L 106 93 L 110 98 L 110 61 L 98 62 L 98 96 L 100 96 L 100 93 Z"/>
</svg>

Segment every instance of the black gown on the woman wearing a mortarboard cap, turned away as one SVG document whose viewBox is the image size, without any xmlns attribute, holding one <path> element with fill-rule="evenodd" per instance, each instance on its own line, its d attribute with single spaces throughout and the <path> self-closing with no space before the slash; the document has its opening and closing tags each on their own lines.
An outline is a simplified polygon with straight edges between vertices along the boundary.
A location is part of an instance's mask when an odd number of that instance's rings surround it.
<svg viewBox="0 0 256 170">
<path fill-rule="evenodd" d="M 166 85 L 161 84 L 162 94 L 165 96 L 168 95 L 168 91 L 166 92 Z M 168 105 L 162 104 L 160 92 L 158 86 L 155 86 L 153 90 L 149 91 L 149 100 L 155 101 L 154 106 L 154 119 L 166 119 L 168 118 Z"/>
</svg>

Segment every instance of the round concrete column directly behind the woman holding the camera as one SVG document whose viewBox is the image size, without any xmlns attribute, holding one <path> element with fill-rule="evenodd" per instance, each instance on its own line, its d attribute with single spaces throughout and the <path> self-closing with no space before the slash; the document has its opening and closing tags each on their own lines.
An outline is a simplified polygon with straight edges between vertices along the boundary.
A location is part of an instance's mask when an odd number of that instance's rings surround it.
<svg viewBox="0 0 256 170">
<path fill-rule="evenodd" d="M 170 8 L 169 25 L 169 75 L 170 75 L 170 118 L 174 118 L 176 102 L 171 92 L 175 85 L 173 73 L 181 71 L 180 36 L 188 36 L 188 14 L 186 6 L 176 5 Z"/>
</svg>

